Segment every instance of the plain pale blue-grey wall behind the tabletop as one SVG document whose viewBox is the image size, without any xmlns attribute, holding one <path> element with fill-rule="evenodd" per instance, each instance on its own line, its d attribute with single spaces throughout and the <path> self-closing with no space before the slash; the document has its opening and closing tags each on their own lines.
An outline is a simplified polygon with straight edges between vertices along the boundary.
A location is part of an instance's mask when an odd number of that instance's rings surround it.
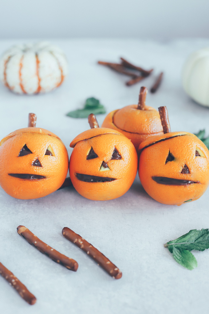
<svg viewBox="0 0 209 314">
<path fill-rule="evenodd" d="M 0 38 L 208 37 L 207 0 L 1 0 Z"/>
</svg>

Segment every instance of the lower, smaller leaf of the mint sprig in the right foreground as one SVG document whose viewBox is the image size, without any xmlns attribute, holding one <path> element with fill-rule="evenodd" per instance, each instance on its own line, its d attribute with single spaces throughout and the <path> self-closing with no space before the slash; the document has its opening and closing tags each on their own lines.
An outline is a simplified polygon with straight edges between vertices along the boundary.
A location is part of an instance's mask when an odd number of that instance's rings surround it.
<svg viewBox="0 0 209 314">
<path fill-rule="evenodd" d="M 177 263 L 179 263 L 181 266 L 184 266 L 185 268 L 192 270 L 197 267 L 197 260 L 194 257 L 194 255 L 184 249 L 173 247 L 173 257 Z"/>
</svg>

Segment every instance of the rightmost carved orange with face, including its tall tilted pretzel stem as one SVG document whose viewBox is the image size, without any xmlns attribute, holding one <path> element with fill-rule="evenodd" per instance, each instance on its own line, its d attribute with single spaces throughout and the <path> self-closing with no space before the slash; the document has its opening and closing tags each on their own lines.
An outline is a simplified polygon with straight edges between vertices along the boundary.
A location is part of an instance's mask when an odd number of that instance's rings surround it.
<svg viewBox="0 0 209 314">
<path fill-rule="evenodd" d="M 159 108 L 165 134 L 139 146 L 139 178 L 145 191 L 163 204 L 195 201 L 209 184 L 209 151 L 194 134 L 170 132 L 166 107 Z"/>
</svg>

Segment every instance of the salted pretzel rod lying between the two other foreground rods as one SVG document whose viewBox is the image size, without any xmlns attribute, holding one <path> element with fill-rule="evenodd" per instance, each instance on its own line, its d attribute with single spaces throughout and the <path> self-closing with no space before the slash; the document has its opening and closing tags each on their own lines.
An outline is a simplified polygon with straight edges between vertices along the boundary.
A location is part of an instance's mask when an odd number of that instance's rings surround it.
<svg viewBox="0 0 209 314">
<path fill-rule="evenodd" d="M 37 236 L 35 236 L 28 228 L 24 226 L 18 226 L 17 232 L 20 236 L 24 237 L 29 244 L 35 246 L 41 253 L 50 257 L 54 262 L 65 266 L 67 269 L 76 272 L 78 269 L 78 263 L 70 258 L 61 254 L 60 252 L 54 250 L 52 247 L 41 241 Z"/>
</svg>

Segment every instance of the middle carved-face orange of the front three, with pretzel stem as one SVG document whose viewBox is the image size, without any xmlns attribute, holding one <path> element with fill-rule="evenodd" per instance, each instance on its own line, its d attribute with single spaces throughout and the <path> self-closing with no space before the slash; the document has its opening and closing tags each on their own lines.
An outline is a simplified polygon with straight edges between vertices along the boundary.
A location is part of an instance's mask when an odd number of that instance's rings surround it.
<svg viewBox="0 0 209 314">
<path fill-rule="evenodd" d="M 131 187 L 137 173 L 137 153 L 120 132 L 99 127 L 89 116 L 90 130 L 71 142 L 70 177 L 76 191 L 92 200 L 122 196 Z"/>
</svg>

